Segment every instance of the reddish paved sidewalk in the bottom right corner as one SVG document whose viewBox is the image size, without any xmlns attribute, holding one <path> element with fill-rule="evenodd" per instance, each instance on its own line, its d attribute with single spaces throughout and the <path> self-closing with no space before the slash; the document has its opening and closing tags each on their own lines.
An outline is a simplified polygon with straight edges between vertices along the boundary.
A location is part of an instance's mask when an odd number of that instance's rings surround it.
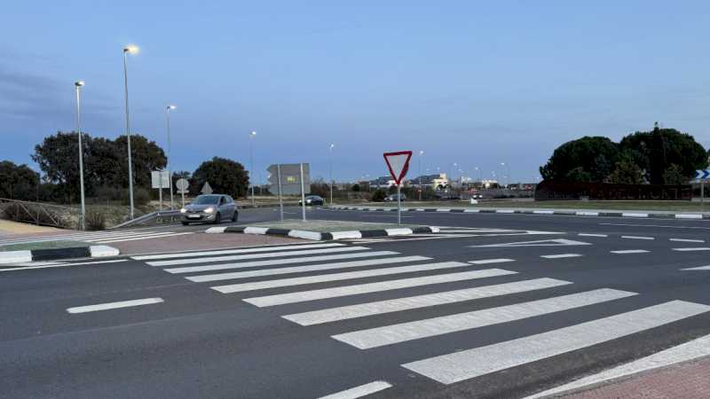
<svg viewBox="0 0 710 399">
<path fill-rule="evenodd" d="M 564 397 L 569 399 L 707 399 L 710 397 L 710 359 L 705 358 L 642 373 Z"/>
</svg>

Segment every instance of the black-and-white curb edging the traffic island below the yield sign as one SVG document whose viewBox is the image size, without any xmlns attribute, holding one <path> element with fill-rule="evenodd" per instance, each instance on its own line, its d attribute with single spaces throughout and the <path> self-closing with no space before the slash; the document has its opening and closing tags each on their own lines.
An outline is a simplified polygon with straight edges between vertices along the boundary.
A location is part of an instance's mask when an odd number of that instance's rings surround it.
<svg viewBox="0 0 710 399">
<path fill-rule="evenodd" d="M 415 233 L 437 233 L 438 227 L 414 227 L 410 228 L 392 228 L 379 230 L 353 230 L 353 231 L 305 231 L 305 230 L 286 230 L 286 229 L 269 229 L 265 227 L 253 226 L 226 226 L 226 227 L 211 227 L 207 233 L 243 233 L 243 234 L 259 234 L 267 236 L 291 237 L 294 239 L 311 239 L 315 241 L 325 241 L 331 239 L 364 239 L 370 237 L 388 237 L 388 236 L 406 236 Z"/>
</svg>

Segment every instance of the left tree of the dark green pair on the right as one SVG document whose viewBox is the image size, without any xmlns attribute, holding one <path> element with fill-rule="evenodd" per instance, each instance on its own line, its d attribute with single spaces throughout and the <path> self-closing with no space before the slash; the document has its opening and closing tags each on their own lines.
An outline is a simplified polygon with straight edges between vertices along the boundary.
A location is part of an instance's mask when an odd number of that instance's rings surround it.
<svg viewBox="0 0 710 399">
<path fill-rule="evenodd" d="M 556 148 L 548 163 L 540 167 L 546 180 L 565 179 L 568 175 L 601 182 L 609 176 L 619 158 L 619 145 L 607 137 L 581 137 Z M 581 168 L 572 172 L 572 169 Z M 580 181 L 580 180 L 577 180 Z"/>
</svg>

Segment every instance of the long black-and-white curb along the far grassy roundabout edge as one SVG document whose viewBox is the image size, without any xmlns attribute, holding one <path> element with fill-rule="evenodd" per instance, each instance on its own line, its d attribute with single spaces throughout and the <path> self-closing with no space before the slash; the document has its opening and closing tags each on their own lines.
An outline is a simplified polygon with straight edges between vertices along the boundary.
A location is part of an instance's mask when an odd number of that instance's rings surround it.
<svg viewBox="0 0 710 399">
<path fill-rule="evenodd" d="M 336 210 L 360 210 L 360 211 L 388 211 L 391 208 L 382 207 L 328 207 Z M 397 209 L 393 209 L 397 210 Z M 449 208 L 449 207 L 410 207 L 402 208 L 402 212 L 453 212 L 463 214 L 518 214 L 518 215 L 565 215 L 565 216 L 606 216 L 606 217 L 627 217 L 627 218 L 656 218 L 656 219 L 710 219 L 710 215 L 703 214 L 654 214 L 642 212 L 593 212 L 584 210 L 548 210 L 548 209 L 497 209 L 494 207 L 479 208 Z"/>
</svg>

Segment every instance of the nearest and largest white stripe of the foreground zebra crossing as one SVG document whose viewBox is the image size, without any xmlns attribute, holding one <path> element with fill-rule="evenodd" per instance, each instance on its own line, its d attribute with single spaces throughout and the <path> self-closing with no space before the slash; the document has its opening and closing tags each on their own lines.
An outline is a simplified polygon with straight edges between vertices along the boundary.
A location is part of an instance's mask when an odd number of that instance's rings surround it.
<svg viewBox="0 0 710 399">
<path fill-rule="evenodd" d="M 402 364 L 408 370 L 452 384 L 616 340 L 710 310 L 710 306 L 669 301 L 517 340 Z"/>
</svg>

